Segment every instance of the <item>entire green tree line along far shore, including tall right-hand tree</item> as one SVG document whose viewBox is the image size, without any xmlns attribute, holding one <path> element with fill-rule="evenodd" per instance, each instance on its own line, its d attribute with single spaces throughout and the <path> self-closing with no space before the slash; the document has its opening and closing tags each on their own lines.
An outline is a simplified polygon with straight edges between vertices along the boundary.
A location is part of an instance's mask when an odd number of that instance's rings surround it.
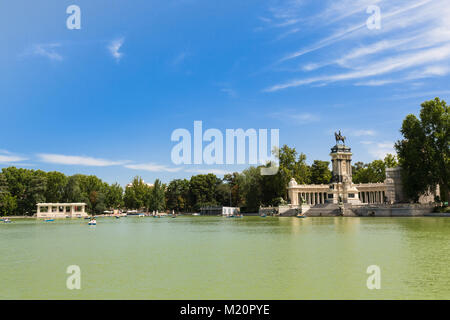
<svg viewBox="0 0 450 320">
<path fill-rule="evenodd" d="M 441 198 L 448 201 L 450 180 L 449 107 L 439 98 L 422 104 L 420 116 L 408 115 L 397 141 L 395 156 L 370 163 L 356 162 L 354 183 L 383 182 L 386 168 L 402 167 L 403 187 L 407 196 L 419 196 L 440 186 Z M 277 206 L 288 201 L 287 185 L 291 178 L 299 184 L 327 184 L 331 180 L 330 163 L 314 160 L 287 145 L 278 150 L 279 170 L 275 175 L 261 175 L 263 166 L 251 166 L 242 172 L 224 175 L 199 174 L 190 179 L 175 179 L 163 184 L 156 179 L 149 186 L 135 177 L 125 190 L 109 185 L 93 175 L 66 176 L 23 168 L 3 168 L 0 173 L 0 215 L 32 215 L 38 202 L 85 202 L 90 213 L 113 208 L 146 211 L 174 210 L 197 212 L 203 206 L 236 206 L 242 212 L 256 212 L 260 206 Z M 267 164 L 266 167 L 269 167 Z"/>
</svg>

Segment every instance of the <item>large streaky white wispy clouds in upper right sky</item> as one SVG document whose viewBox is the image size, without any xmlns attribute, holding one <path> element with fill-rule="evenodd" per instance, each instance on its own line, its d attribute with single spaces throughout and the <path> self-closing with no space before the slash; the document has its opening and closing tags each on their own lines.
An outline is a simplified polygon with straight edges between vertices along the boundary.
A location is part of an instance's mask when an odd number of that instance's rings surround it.
<svg viewBox="0 0 450 320">
<path fill-rule="evenodd" d="M 301 2 L 302 5 L 313 3 Z M 295 5 L 292 4 L 287 5 L 284 11 L 274 11 L 285 12 L 281 17 L 288 21 L 298 20 L 297 28 L 314 25 L 315 30 L 322 30 L 325 35 L 279 59 L 278 64 L 292 64 L 301 58 L 300 69 L 297 64 L 288 70 L 301 75 L 296 79 L 280 81 L 264 91 L 324 86 L 344 81 L 356 81 L 355 85 L 382 86 L 450 74 L 450 22 L 446 18 L 450 15 L 450 7 L 446 0 L 343 0 L 323 3 L 326 5 L 322 5 L 316 15 L 303 20 L 296 19 L 302 12 L 293 10 Z M 369 17 L 366 8 L 373 4 L 382 9 L 381 29 L 376 31 L 366 26 Z M 274 23 L 272 20 L 275 20 L 275 15 L 267 23 Z M 319 50 L 321 53 L 318 55 L 307 55 Z M 314 57 L 322 57 L 323 60 L 311 61 Z M 317 69 L 323 69 L 323 72 L 316 72 Z M 380 76 L 384 79 L 378 78 Z"/>
</svg>

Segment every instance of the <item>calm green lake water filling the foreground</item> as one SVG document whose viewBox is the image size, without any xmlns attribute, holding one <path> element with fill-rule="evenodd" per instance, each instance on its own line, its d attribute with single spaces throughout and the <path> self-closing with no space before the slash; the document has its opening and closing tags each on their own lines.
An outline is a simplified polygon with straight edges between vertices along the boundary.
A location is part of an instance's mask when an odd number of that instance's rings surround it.
<svg viewBox="0 0 450 320">
<path fill-rule="evenodd" d="M 0 223 L 0 299 L 450 299 L 447 218 L 97 222 Z"/>
</svg>

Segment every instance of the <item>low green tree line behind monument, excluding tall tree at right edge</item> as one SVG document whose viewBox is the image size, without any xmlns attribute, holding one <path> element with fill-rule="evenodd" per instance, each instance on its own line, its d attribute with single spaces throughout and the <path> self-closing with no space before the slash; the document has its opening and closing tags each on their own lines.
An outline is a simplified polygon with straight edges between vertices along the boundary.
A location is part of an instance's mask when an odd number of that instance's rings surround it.
<svg viewBox="0 0 450 320">
<path fill-rule="evenodd" d="M 0 215 L 32 215 L 36 203 L 85 202 L 87 211 L 101 214 L 116 208 L 144 211 L 197 212 L 204 206 L 238 206 L 244 212 L 255 212 L 260 206 L 276 206 L 288 201 L 286 186 L 291 178 L 298 183 L 326 184 L 331 180 L 330 163 L 314 160 L 284 145 L 279 150 L 279 171 L 272 176 L 261 175 L 261 168 L 249 167 L 243 172 L 216 175 L 199 174 L 190 179 L 175 179 L 163 184 L 156 179 L 148 185 L 141 177 L 123 189 L 93 175 L 66 176 L 61 172 L 44 172 L 16 167 L 3 168 L 0 173 Z M 357 163 L 361 182 L 383 181 L 383 165 Z M 359 168 L 361 167 L 361 168 Z M 377 174 L 372 172 L 376 167 Z"/>
</svg>

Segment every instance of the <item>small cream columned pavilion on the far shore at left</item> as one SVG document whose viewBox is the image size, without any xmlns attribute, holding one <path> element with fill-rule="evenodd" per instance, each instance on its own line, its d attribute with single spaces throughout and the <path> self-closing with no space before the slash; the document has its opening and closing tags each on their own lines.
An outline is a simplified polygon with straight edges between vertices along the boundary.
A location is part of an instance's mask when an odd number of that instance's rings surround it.
<svg viewBox="0 0 450 320">
<path fill-rule="evenodd" d="M 87 217 L 86 203 L 38 203 L 38 218 Z"/>
</svg>

